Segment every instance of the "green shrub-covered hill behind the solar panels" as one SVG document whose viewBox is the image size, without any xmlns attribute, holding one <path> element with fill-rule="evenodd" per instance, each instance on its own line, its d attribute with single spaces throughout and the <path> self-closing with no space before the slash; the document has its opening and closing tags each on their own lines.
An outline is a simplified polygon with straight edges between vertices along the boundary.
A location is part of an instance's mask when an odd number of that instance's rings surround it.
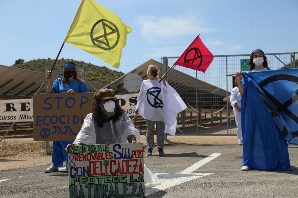
<svg viewBox="0 0 298 198">
<path fill-rule="evenodd" d="M 25 62 L 24 59 L 18 59 L 13 64 L 13 67 L 21 68 L 21 69 L 28 69 L 37 72 L 45 72 L 47 70 L 51 70 L 52 65 L 55 60 L 47 58 L 47 59 L 33 59 L 32 61 Z M 63 69 L 63 65 L 69 59 L 58 59 L 54 70 Z M 91 63 L 85 63 L 83 61 L 75 61 L 71 59 L 76 65 L 76 69 L 84 69 L 86 73 L 86 79 L 88 81 L 94 81 L 98 83 L 111 83 L 112 81 L 116 80 L 120 76 L 122 76 L 123 72 L 117 72 L 114 70 L 109 69 L 105 66 L 97 66 Z"/>
</svg>

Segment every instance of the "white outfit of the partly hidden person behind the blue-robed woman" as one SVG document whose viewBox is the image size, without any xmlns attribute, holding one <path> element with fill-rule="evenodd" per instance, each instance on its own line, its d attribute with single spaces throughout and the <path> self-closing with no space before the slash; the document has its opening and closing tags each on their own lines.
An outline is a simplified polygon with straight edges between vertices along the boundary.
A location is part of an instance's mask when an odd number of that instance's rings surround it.
<svg viewBox="0 0 298 198">
<path fill-rule="evenodd" d="M 234 113 L 234 117 L 235 117 L 235 122 L 236 122 L 236 126 L 237 126 L 237 137 L 238 137 L 238 141 L 243 141 L 243 137 L 242 137 L 242 131 L 241 131 L 241 112 L 239 112 L 237 110 L 237 108 L 235 108 L 235 104 L 237 103 L 238 107 L 241 108 L 241 94 L 239 93 L 239 89 L 238 87 L 234 87 L 231 91 L 231 96 L 230 96 L 230 103 L 233 107 L 233 113 Z"/>
</svg>

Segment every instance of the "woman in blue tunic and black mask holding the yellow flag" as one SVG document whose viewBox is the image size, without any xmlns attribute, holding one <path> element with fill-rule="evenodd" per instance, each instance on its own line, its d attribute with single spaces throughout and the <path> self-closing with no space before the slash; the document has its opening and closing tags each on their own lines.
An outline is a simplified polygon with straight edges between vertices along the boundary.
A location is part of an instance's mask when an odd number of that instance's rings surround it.
<svg viewBox="0 0 298 198">
<path fill-rule="evenodd" d="M 46 79 L 48 80 L 47 93 L 66 93 L 71 96 L 78 92 L 89 92 L 87 85 L 77 77 L 77 71 L 74 62 L 67 61 L 64 64 L 63 78 L 57 78 L 52 85 L 52 72 L 48 71 Z M 68 144 L 73 141 L 53 141 L 52 164 L 44 170 L 44 172 L 58 171 L 59 167 L 63 167 L 63 162 L 67 161 L 67 153 L 64 151 Z M 66 162 L 66 171 L 68 171 L 68 163 Z"/>
</svg>

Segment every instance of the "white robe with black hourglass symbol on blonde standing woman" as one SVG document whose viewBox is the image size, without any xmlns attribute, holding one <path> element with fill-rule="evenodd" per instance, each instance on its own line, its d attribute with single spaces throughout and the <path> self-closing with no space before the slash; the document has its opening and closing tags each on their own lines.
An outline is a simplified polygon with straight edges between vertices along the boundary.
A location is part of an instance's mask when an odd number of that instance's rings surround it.
<svg viewBox="0 0 298 198">
<path fill-rule="evenodd" d="M 143 118 L 151 121 L 163 121 L 166 124 L 165 133 L 176 134 L 177 113 L 187 108 L 179 94 L 167 82 L 144 80 L 142 82 L 136 109 Z"/>
</svg>

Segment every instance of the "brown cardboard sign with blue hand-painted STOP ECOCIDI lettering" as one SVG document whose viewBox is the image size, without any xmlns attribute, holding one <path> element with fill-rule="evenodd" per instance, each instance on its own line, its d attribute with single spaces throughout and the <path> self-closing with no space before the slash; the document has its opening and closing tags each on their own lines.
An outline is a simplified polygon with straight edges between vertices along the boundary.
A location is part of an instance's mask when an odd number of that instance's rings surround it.
<svg viewBox="0 0 298 198">
<path fill-rule="evenodd" d="M 33 95 L 33 139 L 74 141 L 90 113 L 94 92 Z"/>
</svg>

